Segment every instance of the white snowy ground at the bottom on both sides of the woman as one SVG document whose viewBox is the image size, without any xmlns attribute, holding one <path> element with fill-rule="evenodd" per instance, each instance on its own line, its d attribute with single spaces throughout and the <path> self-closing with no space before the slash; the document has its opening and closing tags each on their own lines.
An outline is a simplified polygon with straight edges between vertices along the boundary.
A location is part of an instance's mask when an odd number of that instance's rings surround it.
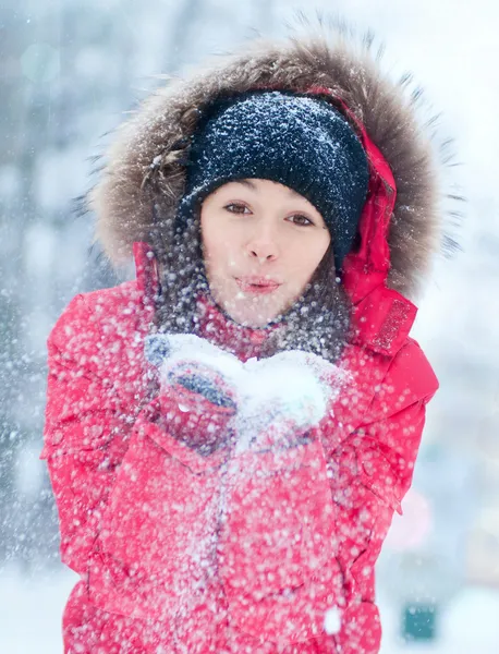
<svg viewBox="0 0 499 654">
<path fill-rule="evenodd" d="M 60 654 L 60 620 L 76 577 L 69 572 L 23 579 L 0 571 L 0 651 L 9 654 Z M 381 601 L 381 654 L 497 654 L 499 592 L 468 588 L 457 596 L 441 620 L 433 645 L 398 642 L 398 608 Z"/>
</svg>

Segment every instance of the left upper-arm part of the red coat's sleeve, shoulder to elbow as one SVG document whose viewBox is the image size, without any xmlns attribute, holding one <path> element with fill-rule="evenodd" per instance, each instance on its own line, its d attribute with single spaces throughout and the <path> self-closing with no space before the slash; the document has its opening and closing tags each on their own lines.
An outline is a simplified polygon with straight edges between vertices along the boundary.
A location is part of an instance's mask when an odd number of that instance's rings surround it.
<svg viewBox="0 0 499 654">
<path fill-rule="evenodd" d="M 57 502 L 62 561 L 82 576 L 88 571 L 102 509 L 134 423 L 130 407 L 121 405 L 112 368 L 97 365 L 99 337 L 84 296 L 77 295 L 47 341 L 40 458 L 47 460 Z"/>
</svg>

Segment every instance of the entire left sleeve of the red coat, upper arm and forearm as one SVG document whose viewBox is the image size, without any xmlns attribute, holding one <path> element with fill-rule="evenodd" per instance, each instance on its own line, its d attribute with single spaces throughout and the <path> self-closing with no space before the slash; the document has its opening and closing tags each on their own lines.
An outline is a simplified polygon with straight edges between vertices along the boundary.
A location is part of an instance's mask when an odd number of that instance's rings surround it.
<svg viewBox="0 0 499 654">
<path fill-rule="evenodd" d="M 185 395 L 183 410 L 174 393 L 150 398 L 147 379 L 134 385 L 143 339 L 134 353 L 114 315 L 97 313 L 85 296 L 74 299 L 48 339 L 41 458 L 61 558 L 84 578 L 93 605 L 159 619 L 188 595 L 179 593 L 188 585 L 185 566 L 194 578 L 204 565 L 198 554 L 211 543 L 204 530 L 215 531 L 206 525 L 217 518 L 211 505 L 224 459 L 222 450 L 203 457 L 181 437 L 193 433 L 192 423 L 200 433 L 221 432 L 227 415 L 207 400 L 191 407 Z"/>
</svg>

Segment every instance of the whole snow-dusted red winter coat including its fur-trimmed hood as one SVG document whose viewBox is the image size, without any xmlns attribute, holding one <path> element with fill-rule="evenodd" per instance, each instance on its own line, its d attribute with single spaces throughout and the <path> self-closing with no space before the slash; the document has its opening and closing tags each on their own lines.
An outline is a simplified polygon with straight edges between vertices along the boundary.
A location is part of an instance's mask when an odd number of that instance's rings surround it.
<svg viewBox="0 0 499 654">
<path fill-rule="evenodd" d="M 438 388 L 410 337 L 410 298 L 438 247 L 431 158 L 403 87 L 382 80 L 367 51 L 342 37 L 258 47 L 149 100 L 122 128 L 94 192 L 100 239 L 111 258 L 133 247 L 136 280 L 77 295 L 48 339 L 41 457 L 62 560 L 81 574 L 64 611 L 68 653 L 379 650 L 374 566 Z M 252 87 L 334 95 L 362 132 L 369 194 L 343 279 L 354 331 L 338 362 L 346 380 L 307 439 L 278 457 L 230 445 L 203 456 L 181 437 L 193 429 L 188 408 L 174 392 L 160 403 L 144 354 L 157 278 L 143 181 L 187 129 L 181 116 Z M 162 170 L 160 191 L 173 210 L 171 174 Z M 199 316 L 199 336 L 238 340 L 241 361 L 257 355 L 265 330 L 235 325 L 208 298 Z M 194 424 L 199 439 L 229 423 L 206 401 Z"/>
</svg>

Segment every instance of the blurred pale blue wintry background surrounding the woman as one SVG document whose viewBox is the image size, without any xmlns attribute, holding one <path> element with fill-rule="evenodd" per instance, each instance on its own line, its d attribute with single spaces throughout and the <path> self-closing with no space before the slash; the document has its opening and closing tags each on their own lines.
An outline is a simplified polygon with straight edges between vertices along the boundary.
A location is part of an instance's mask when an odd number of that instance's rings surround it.
<svg viewBox="0 0 499 654">
<path fill-rule="evenodd" d="M 499 652 L 499 9 L 495 0 L 317 0 L 386 41 L 454 140 L 450 192 L 468 202 L 463 252 L 438 261 L 414 336 L 441 389 L 413 489 L 378 566 L 382 653 Z M 0 3 L 0 649 L 62 651 L 75 576 L 38 460 L 45 340 L 80 291 L 117 282 L 74 214 L 92 158 L 156 73 L 282 32 L 287 0 L 3 0 Z M 431 110 L 430 110 L 431 111 Z"/>
</svg>

